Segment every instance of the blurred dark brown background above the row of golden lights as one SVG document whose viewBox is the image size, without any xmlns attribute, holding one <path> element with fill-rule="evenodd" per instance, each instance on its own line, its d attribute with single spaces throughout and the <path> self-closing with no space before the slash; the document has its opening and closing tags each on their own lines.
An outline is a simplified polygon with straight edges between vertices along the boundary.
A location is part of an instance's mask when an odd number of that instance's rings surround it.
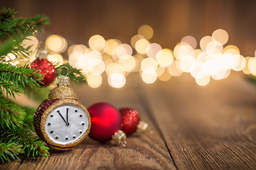
<svg viewBox="0 0 256 170">
<path fill-rule="evenodd" d="M 254 56 L 256 50 L 255 1 L 2 1 L 15 8 L 17 16 L 44 14 L 51 20 L 47 32 L 85 44 L 93 35 L 130 43 L 141 25 L 154 30 L 152 42 L 174 49 L 184 36 L 198 41 L 217 29 L 229 34 L 227 44 L 237 46 L 241 55 Z"/>
</svg>

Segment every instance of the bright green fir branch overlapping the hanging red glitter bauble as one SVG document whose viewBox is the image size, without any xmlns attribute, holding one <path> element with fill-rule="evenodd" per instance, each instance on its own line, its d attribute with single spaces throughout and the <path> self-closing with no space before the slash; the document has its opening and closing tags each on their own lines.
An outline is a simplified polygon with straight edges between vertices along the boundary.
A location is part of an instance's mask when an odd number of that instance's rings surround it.
<svg viewBox="0 0 256 170">
<path fill-rule="evenodd" d="M 13 83 L 16 86 L 25 87 L 25 84 L 39 86 L 37 82 L 41 82 L 42 75 L 34 69 L 12 66 L 11 64 L 0 63 L 0 77 L 2 81 Z"/>
</svg>

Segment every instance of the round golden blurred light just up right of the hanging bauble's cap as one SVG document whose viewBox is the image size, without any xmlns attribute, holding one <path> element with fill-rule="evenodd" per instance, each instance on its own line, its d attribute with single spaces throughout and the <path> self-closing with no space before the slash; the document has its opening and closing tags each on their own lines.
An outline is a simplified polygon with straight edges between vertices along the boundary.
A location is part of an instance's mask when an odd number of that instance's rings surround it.
<svg viewBox="0 0 256 170">
<path fill-rule="evenodd" d="M 59 35 L 50 35 L 45 41 L 46 47 L 54 52 L 62 53 L 67 49 L 68 43 L 65 38 Z"/>
</svg>

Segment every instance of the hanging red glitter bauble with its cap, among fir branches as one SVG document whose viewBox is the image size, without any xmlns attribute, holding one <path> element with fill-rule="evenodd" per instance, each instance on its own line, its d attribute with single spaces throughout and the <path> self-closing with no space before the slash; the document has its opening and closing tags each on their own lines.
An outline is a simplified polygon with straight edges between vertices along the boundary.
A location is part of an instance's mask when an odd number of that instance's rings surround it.
<svg viewBox="0 0 256 170">
<path fill-rule="evenodd" d="M 33 68 L 38 70 L 39 73 L 43 75 L 44 84 L 37 82 L 40 86 L 47 86 L 52 83 L 56 77 L 56 69 L 55 67 L 47 60 L 47 50 L 46 47 L 42 44 L 40 48 L 38 48 L 36 54 L 36 60 L 29 66 L 29 68 Z"/>
</svg>

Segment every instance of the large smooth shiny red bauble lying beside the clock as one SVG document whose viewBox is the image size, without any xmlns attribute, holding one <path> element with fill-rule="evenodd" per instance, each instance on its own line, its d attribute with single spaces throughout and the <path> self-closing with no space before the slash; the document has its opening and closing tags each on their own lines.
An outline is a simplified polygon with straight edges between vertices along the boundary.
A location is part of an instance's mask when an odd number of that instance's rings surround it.
<svg viewBox="0 0 256 170">
<path fill-rule="evenodd" d="M 108 103 L 96 103 L 88 108 L 91 116 L 91 130 L 88 134 L 92 139 L 105 142 L 121 129 L 122 118 L 119 111 Z"/>
</svg>

